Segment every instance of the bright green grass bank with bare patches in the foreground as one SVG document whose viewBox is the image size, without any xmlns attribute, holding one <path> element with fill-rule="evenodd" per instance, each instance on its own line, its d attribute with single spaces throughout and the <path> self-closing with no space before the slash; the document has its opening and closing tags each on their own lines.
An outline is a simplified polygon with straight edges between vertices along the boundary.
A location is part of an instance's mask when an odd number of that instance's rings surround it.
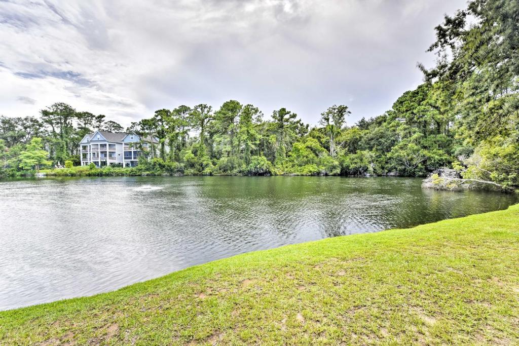
<svg viewBox="0 0 519 346">
<path fill-rule="evenodd" d="M 519 205 L 0 312 L 0 344 L 519 344 Z"/>
</svg>

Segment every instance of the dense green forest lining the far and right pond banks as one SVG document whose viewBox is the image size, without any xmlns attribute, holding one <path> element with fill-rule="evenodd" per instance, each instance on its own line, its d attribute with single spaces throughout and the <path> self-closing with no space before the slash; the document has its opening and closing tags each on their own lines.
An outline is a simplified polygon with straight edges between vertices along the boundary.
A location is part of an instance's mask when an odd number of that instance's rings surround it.
<svg viewBox="0 0 519 346">
<path fill-rule="evenodd" d="M 56 103 L 39 117 L 0 117 L 0 175 L 57 162 L 79 164 L 87 133 L 133 131 L 159 145 L 137 168 L 117 174 L 301 174 L 426 176 L 441 168 L 460 178 L 519 186 L 519 3 L 473 0 L 435 28 L 433 67 L 424 83 L 383 115 L 346 126 L 333 105 L 310 127 L 294 110 L 265 116 L 227 101 L 159 109 L 124 129 L 104 115 Z M 166 150 L 166 148 L 170 150 Z M 106 174 L 115 168 L 104 168 Z M 95 169 L 95 174 L 103 174 Z"/>
</svg>

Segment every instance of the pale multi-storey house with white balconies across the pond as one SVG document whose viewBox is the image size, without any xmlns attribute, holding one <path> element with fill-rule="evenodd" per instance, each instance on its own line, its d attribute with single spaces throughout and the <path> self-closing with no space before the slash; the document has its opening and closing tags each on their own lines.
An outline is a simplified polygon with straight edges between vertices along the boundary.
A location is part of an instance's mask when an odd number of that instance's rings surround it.
<svg viewBox="0 0 519 346">
<path fill-rule="evenodd" d="M 79 142 L 81 165 L 89 165 L 93 162 L 97 167 L 114 163 L 122 164 L 122 167 L 135 167 L 140 149 L 147 150 L 151 143 L 157 144 L 158 140 L 148 137 L 141 141 L 141 137 L 135 133 L 113 133 L 108 131 L 95 131 L 87 134 Z"/>
</svg>

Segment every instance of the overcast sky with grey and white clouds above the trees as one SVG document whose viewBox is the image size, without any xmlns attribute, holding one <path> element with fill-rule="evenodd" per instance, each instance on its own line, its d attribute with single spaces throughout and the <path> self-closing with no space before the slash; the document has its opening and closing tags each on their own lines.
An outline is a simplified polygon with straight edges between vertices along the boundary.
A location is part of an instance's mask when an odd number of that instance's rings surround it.
<svg viewBox="0 0 519 346">
<path fill-rule="evenodd" d="M 0 0 L 0 115 L 54 102 L 128 126 L 227 100 L 317 124 L 383 114 L 466 0 Z"/>
</svg>

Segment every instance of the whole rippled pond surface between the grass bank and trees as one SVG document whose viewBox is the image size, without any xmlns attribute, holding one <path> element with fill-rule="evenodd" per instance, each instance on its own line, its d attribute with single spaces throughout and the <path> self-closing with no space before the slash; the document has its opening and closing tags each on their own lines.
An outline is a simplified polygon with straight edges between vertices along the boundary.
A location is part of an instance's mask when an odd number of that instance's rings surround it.
<svg viewBox="0 0 519 346">
<path fill-rule="evenodd" d="M 415 178 L 0 182 L 0 309 L 113 290 L 244 252 L 504 209 Z"/>
</svg>

